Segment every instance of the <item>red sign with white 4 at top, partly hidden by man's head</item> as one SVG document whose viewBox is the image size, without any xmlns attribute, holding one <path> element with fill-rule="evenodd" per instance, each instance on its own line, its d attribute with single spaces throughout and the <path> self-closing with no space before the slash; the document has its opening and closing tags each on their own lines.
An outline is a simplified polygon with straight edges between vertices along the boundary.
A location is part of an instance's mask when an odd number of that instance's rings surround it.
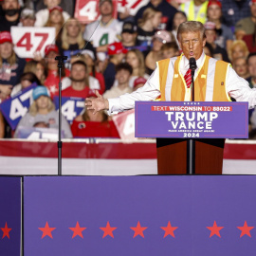
<svg viewBox="0 0 256 256">
<path fill-rule="evenodd" d="M 113 0 L 113 17 L 117 18 L 117 0 Z M 75 7 L 75 18 L 81 23 L 88 24 L 98 20 L 101 16 L 99 10 L 99 0 L 77 0 Z"/>
</svg>

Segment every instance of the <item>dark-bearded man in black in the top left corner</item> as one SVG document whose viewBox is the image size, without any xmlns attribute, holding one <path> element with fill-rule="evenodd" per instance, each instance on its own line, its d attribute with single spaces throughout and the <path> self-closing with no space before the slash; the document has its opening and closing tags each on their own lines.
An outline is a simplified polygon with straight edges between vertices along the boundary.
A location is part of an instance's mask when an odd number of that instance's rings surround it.
<svg viewBox="0 0 256 256">
<path fill-rule="evenodd" d="M 10 31 L 11 26 L 17 26 L 20 18 L 20 4 L 18 0 L 3 0 L 4 15 L 0 16 L 0 32 Z"/>
</svg>

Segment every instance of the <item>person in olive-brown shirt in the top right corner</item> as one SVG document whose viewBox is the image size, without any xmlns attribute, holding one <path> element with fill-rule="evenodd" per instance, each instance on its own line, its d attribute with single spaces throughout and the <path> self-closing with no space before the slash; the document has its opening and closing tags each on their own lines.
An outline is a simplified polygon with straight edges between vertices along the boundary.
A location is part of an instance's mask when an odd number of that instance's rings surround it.
<svg viewBox="0 0 256 256">
<path fill-rule="evenodd" d="M 250 16 L 239 20 L 235 25 L 236 39 L 243 39 L 244 35 L 253 34 L 256 24 L 256 0 L 250 1 Z"/>
</svg>

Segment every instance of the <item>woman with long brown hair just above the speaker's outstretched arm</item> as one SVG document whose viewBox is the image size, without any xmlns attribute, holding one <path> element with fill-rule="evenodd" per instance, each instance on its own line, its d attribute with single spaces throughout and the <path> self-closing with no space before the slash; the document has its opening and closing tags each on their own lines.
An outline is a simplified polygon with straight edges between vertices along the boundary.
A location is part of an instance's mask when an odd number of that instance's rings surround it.
<svg viewBox="0 0 256 256">
<path fill-rule="evenodd" d="M 126 62 L 133 67 L 133 74 L 129 81 L 129 86 L 134 87 L 135 80 L 138 77 L 148 79 L 149 75 L 145 72 L 144 56 L 138 49 L 129 50 L 126 54 Z"/>
</svg>

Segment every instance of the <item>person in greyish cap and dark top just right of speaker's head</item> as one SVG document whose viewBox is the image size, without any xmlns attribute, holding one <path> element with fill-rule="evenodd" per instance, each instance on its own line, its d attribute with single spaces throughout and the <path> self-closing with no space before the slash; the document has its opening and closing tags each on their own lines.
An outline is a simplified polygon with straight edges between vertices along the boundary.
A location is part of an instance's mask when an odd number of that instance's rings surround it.
<svg viewBox="0 0 256 256">
<path fill-rule="evenodd" d="M 222 48 L 221 46 L 218 46 L 215 43 L 215 40 L 217 38 L 217 31 L 216 31 L 216 25 L 213 22 L 206 22 L 205 24 L 206 28 L 206 36 L 207 36 L 207 43 L 210 44 L 210 46 L 213 48 L 213 57 L 220 61 L 225 61 L 229 63 L 229 57 L 228 52 L 225 48 Z"/>
</svg>

